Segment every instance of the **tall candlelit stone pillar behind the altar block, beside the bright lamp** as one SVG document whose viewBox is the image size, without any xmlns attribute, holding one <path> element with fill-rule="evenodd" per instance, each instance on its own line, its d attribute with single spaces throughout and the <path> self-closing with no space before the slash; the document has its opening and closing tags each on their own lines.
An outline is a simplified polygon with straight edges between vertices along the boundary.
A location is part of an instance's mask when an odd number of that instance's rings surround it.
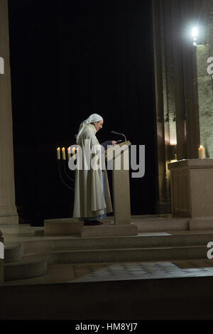
<svg viewBox="0 0 213 334">
<path fill-rule="evenodd" d="M 177 158 L 198 158 L 200 124 L 196 49 L 190 31 L 184 27 L 186 22 L 196 21 L 202 12 L 202 2 L 152 1 L 158 203 L 162 213 L 170 204 L 168 163 Z"/>
</svg>

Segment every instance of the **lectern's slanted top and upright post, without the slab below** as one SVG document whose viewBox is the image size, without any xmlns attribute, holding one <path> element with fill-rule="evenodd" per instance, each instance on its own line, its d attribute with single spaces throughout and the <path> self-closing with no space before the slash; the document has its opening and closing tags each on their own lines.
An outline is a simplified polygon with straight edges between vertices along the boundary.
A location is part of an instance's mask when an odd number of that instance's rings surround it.
<svg viewBox="0 0 213 334">
<path fill-rule="evenodd" d="M 114 224 L 131 223 L 129 190 L 129 146 L 130 141 L 110 146 L 105 151 L 107 166 L 112 164 L 112 186 Z"/>
</svg>

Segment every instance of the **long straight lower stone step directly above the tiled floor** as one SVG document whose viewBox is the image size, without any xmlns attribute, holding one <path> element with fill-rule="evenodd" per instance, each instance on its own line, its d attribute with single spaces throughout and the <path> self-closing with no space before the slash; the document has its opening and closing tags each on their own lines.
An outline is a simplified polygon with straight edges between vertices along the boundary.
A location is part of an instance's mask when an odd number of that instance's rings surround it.
<svg viewBox="0 0 213 334">
<path fill-rule="evenodd" d="M 153 247 L 131 249 L 82 249 L 58 250 L 40 253 L 48 264 L 89 263 L 89 262 L 137 262 L 171 261 L 174 259 L 207 259 L 207 247 L 202 245 L 182 247 Z M 37 254 L 25 257 L 30 261 Z"/>
</svg>

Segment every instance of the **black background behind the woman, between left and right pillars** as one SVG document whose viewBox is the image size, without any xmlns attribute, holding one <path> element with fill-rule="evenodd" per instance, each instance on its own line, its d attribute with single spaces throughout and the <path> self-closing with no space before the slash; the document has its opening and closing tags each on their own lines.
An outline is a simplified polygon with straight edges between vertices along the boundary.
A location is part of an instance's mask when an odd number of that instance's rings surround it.
<svg viewBox="0 0 213 334">
<path fill-rule="evenodd" d="M 156 154 L 151 1 L 9 0 L 16 205 L 20 222 L 70 217 L 56 149 L 101 114 L 99 142 L 146 145 L 146 174 L 131 178 L 131 214 L 155 213 Z M 109 172 L 109 183 L 111 174 Z"/>
</svg>

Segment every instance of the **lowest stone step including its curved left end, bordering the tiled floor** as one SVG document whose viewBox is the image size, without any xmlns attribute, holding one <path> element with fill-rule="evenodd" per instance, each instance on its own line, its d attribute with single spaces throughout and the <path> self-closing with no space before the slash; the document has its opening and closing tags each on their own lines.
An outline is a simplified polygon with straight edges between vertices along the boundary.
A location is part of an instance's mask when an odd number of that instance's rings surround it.
<svg viewBox="0 0 213 334">
<path fill-rule="evenodd" d="M 207 247 L 155 247 L 142 249 L 89 249 L 30 254 L 19 262 L 4 264 L 4 281 L 45 275 L 48 264 L 100 262 L 153 262 L 180 259 L 205 259 Z"/>
</svg>

